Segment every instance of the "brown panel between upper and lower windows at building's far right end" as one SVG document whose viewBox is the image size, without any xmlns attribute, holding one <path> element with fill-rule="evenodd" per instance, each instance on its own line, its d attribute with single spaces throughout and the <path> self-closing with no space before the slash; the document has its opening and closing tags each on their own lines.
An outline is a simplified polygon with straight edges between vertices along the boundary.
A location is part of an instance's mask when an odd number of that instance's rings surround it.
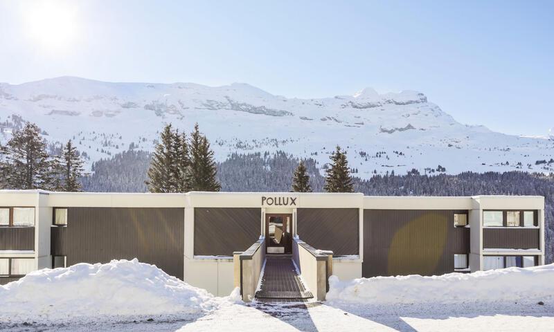
<svg viewBox="0 0 554 332">
<path fill-rule="evenodd" d="M 483 248 L 539 249 L 539 229 L 483 228 Z"/>
</svg>

